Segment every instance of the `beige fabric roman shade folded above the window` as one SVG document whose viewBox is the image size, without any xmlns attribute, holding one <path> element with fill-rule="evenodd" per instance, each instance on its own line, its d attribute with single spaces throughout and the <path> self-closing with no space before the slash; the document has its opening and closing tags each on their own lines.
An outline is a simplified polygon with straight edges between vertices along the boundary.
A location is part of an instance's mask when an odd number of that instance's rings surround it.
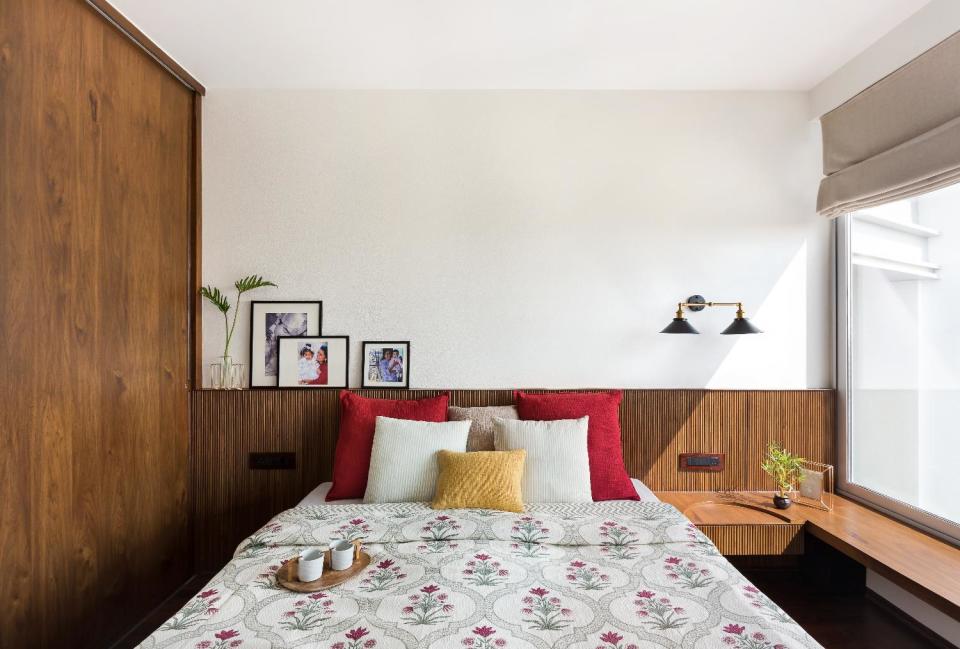
<svg viewBox="0 0 960 649">
<path fill-rule="evenodd" d="M 835 217 L 960 181 L 960 32 L 820 118 L 817 211 Z"/>
</svg>

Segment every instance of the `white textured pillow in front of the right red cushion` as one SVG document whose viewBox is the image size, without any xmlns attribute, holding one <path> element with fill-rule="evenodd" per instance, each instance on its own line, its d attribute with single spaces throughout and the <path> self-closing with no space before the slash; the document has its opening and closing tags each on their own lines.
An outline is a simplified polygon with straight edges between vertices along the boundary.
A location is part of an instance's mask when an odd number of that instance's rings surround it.
<svg viewBox="0 0 960 649">
<path fill-rule="evenodd" d="M 554 421 L 493 420 L 498 451 L 526 449 L 523 501 L 527 503 L 592 502 L 587 455 L 589 417 Z"/>
</svg>

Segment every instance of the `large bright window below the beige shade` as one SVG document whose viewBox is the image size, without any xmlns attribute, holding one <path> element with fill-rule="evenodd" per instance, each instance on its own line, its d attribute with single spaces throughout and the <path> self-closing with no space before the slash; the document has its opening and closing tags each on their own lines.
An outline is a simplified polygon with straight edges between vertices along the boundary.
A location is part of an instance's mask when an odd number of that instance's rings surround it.
<svg viewBox="0 0 960 649">
<path fill-rule="evenodd" d="M 960 540 L 960 185 L 837 233 L 839 488 Z"/>
</svg>

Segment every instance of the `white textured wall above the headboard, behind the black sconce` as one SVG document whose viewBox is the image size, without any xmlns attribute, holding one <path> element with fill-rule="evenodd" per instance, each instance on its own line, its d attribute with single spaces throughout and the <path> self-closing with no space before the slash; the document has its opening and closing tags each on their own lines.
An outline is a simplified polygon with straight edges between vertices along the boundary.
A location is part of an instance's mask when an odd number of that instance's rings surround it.
<svg viewBox="0 0 960 649">
<path fill-rule="evenodd" d="M 410 339 L 414 387 L 825 387 L 830 227 L 802 93 L 223 91 L 204 281 Z M 665 336 L 675 303 L 742 299 Z M 248 307 L 234 355 L 246 360 Z M 222 324 L 204 314 L 204 356 Z"/>
</svg>

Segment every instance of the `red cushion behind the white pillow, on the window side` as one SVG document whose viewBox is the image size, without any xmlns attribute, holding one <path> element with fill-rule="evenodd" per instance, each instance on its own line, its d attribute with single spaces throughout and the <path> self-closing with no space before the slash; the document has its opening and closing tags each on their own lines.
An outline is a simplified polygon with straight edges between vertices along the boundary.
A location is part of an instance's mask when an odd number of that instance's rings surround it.
<svg viewBox="0 0 960 649">
<path fill-rule="evenodd" d="M 620 390 L 528 394 L 516 391 L 520 419 L 548 421 L 589 417 L 590 489 L 596 500 L 640 500 L 623 464 Z"/>
</svg>

